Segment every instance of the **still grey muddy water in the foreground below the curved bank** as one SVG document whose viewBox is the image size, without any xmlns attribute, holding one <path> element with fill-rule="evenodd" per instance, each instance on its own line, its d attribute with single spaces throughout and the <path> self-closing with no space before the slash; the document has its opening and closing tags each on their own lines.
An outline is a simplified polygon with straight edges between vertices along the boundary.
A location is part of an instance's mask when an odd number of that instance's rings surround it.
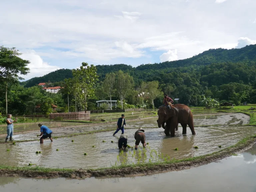
<svg viewBox="0 0 256 192">
<path fill-rule="evenodd" d="M 157 175 L 125 178 L 25 179 L 0 177 L 0 191 L 225 191 L 255 192 L 256 146 L 238 156 L 200 167 Z M 237 183 L 237 185 L 236 185 Z"/>
</svg>

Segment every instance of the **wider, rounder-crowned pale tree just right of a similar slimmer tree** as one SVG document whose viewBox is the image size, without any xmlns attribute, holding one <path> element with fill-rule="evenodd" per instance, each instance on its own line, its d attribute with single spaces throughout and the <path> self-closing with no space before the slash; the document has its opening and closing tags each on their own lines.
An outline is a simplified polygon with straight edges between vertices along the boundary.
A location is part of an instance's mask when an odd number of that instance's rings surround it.
<svg viewBox="0 0 256 192">
<path fill-rule="evenodd" d="M 115 88 L 120 98 L 122 109 L 123 100 L 127 96 L 128 92 L 133 88 L 133 86 L 133 77 L 131 77 L 128 73 L 124 73 L 123 71 L 119 70 L 116 74 Z"/>
</svg>

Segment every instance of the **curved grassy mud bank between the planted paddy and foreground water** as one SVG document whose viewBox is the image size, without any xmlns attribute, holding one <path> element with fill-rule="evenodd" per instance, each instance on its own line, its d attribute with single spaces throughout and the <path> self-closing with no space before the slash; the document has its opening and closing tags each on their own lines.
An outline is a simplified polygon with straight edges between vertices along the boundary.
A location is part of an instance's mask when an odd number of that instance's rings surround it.
<svg viewBox="0 0 256 192">
<path fill-rule="evenodd" d="M 163 171 L 178 171 L 203 164 L 207 164 L 225 157 L 234 155 L 251 147 L 256 142 L 256 135 L 246 137 L 233 146 L 227 147 L 220 151 L 202 155 L 198 157 L 185 159 L 172 159 L 170 161 L 156 163 L 138 163 L 123 164 L 120 166 L 112 166 L 99 169 L 60 169 L 45 167 L 12 167 L 0 165 L 0 176 L 18 176 L 18 177 L 69 177 L 69 178 L 85 178 L 85 177 L 105 177 L 105 176 L 132 176 L 141 174 L 156 174 Z"/>
</svg>

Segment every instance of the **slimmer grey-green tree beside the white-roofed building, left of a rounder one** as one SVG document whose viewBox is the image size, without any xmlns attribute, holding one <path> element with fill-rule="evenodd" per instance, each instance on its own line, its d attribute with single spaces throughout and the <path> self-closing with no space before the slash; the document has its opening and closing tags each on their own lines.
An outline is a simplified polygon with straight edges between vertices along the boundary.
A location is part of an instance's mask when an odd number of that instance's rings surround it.
<svg viewBox="0 0 256 192">
<path fill-rule="evenodd" d="M 103 82 L 103 90 L 109 97 L 111 110 L 112 110 L 111 98 L 112 98 L 112 95 L 115 91 L 114 90 L 115 79 L 116 79 L 116 74 L 115 73 L 108 73 L 108 74 L 106 74 L 105 80 Z"/>
</svg>

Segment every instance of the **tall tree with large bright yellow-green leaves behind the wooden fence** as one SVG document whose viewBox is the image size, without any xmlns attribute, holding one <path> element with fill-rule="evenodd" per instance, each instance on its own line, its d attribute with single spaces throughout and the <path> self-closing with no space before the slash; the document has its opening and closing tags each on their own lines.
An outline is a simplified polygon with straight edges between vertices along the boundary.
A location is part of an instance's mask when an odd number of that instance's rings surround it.
<svg viewBox="0 0 256 192">
<path fill-rule="evenodd" d="M 79 69 L 73 69 L 72 74 L 75 82 L 80 84 L 79 96 L 84 103 L 84 110 L 87 111 L 86 99 L 94 94 L 94 85 L 98 81 L 97 69 L 94 65 L 89 66 L 88 63 L 82 62 Z"/>
</svg>

